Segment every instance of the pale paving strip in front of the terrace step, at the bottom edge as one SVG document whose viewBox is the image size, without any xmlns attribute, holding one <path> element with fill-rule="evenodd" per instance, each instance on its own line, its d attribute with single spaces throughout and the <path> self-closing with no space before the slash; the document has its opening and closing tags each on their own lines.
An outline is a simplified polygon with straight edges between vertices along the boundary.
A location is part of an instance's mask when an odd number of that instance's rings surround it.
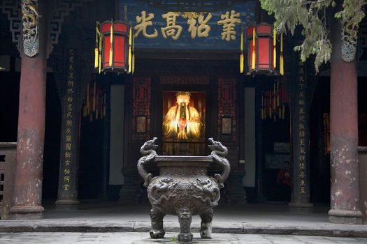
<svg viewBox="0 0 367 244">
<path fill-rule="evenodd" d="M 75 232 L 22 232 L 0 233 L 0 244 L 151 244 L 177 243 L 177 233 L 167 233 L 159 242 L 150 241 L 149 234 L 143 232 L 124 233 L 75 233 Z M 213 239 L 201 240 L 194 233 L 195 243 L 228 244 L 366 244 L 367 238 L 346 238 L 330 236 L 292 236 L 261 234 L 213 234 Z"/>
</svg>

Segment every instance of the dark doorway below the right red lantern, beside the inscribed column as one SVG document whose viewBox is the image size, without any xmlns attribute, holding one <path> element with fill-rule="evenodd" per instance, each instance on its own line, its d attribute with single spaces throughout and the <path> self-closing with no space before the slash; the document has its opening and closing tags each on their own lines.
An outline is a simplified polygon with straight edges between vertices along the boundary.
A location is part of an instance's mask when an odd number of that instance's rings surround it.
<svg viewBox="0 0 367 244">
<path fill-rule="evenodd" d="M 290 201 L 292 174 L 284 174 L 286 162 L 291 160 L 290 112 L 285 83 L 277 77 L 257 77 L 260 114 L 257 130 L 261 131 L 263 195 L 267 201 Z M 274 96 L 275 95 L 275 96 Z"/>
</svg>

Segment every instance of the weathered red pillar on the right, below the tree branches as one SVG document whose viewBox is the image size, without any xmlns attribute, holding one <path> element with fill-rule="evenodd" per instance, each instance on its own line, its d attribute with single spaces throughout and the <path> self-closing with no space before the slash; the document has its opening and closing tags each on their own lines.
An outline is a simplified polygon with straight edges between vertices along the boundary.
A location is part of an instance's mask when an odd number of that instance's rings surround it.
<svg viewBox="0 0 367 244">
<path fill-rule="evenodd" d="M 359 211 L 358 109 L 356 62 L 341 56 L 341 25 L 331 26 L 331 210 L 329 221 L 361 224 Z"/>
</svg>

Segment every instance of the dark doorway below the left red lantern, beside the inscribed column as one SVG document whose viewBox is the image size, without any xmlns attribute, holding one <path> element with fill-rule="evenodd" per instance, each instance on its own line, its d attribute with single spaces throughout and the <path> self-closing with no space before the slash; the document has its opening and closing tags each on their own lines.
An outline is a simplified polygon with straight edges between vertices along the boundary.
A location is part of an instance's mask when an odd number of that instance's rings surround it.
<svg viewBox="0 0 367 244">
<path fill-rule="evenodd" d="M 87 96 L 80 111 L 80 148 L 78 195 L 97 199 L 106 194 L 108 158 L 108 75 L 97 76 L 87 86 Z M 86 103 L 89 103 L 87 105 Z M 86 109 L 88 107 L 88 109 Z"/>
</svg>

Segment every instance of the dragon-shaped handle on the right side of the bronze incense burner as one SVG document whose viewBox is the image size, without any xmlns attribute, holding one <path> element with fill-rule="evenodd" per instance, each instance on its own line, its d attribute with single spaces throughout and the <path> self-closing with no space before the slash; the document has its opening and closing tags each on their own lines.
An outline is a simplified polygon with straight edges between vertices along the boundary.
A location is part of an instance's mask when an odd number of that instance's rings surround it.
<svg viewBox="0 0 367 244">
<path fill-rule="evenodd" d="M 223 171 L 222 174 L 215 174 L 214 177 L 217 180 L 217 183 L 220 188 L 224 188 L 224 181 L 229 176 L 229 171 L 231 171 L 231 165 L 226 158 L 224 158 L 228 154 L 228 149 L 226 146 L 223 146 L 221 142 L 215 141 L 213 138 L 208 139 L 210 144 L 208 147 L 212 150 L 209 157 L 212 157 L 214 162 L 222 165 Z"/>
</svg>

